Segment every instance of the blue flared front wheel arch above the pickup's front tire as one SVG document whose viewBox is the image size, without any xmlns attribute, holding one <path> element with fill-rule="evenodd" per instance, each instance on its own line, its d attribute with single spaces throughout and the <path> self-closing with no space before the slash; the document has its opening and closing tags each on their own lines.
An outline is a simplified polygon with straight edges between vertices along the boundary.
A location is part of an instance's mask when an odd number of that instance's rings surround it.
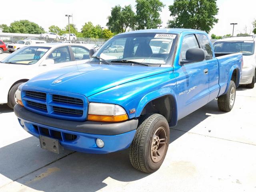
<svg viewBox="0 0 256 192">
<path fill-rule="evenodd" d="M 138 105 L 136 117 L 148 113 L 163 115 L 170 126 L 176 126 L 178 122 L 177 100 L 174 91 L 161 89 L 144 96 Z"/>
</svg>

